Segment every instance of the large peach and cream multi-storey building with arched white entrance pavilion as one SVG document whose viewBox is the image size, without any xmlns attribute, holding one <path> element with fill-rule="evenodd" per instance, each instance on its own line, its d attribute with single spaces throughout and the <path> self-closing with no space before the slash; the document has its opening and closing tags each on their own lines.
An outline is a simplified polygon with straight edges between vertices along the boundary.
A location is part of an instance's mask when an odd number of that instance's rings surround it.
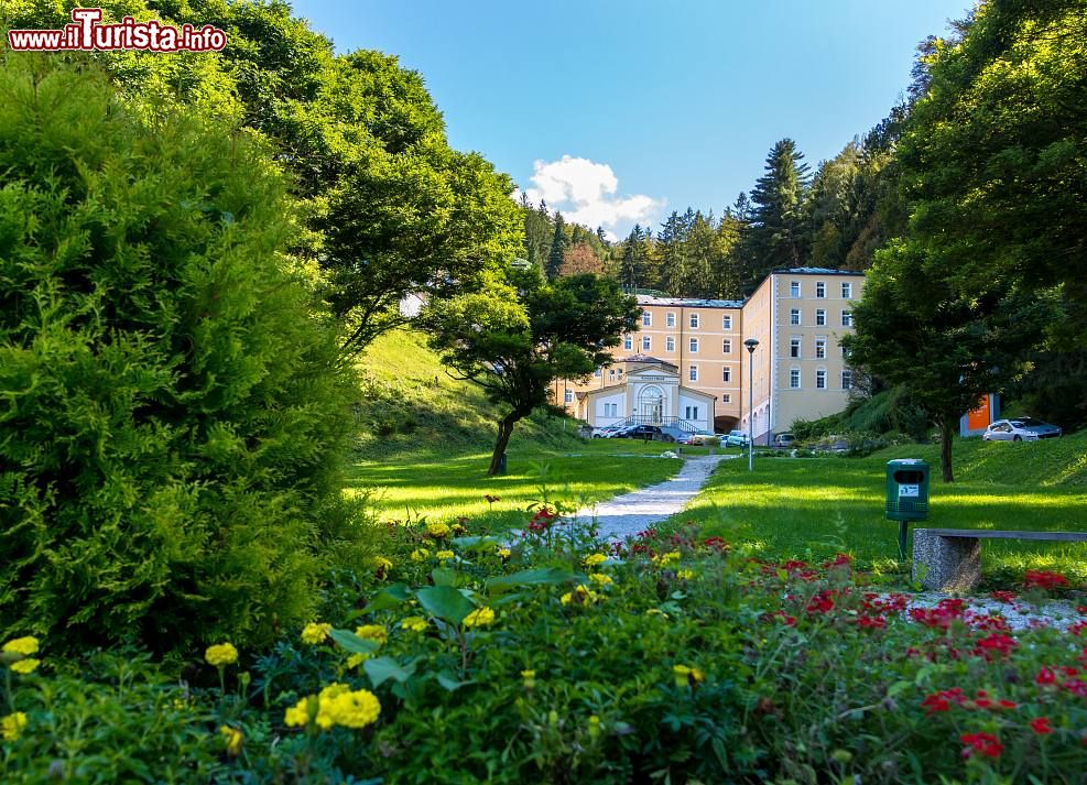
<svg viewBox="0 0 1087 785">
<path fill-rule="evenodd" d="M 773 271 L 742 302 L 639 295 L 641 320 L 617 362 L 557 381 L 554 400 L 594 426 L 728 432 L 748 429 L 753 397 L 756 441 L 769 443 L 795 419 L 845 408 L 852 378 L 838 341 L 863 282 L 863 273 L 794 268 Z M 749 358 L 750 338 L 759 346 Z"/>
</svg>

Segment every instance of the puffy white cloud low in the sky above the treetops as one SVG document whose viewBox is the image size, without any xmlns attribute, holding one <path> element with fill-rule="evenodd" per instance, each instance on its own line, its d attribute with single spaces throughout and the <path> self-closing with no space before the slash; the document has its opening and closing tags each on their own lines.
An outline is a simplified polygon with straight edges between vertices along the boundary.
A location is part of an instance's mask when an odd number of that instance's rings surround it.
<svg viewBox="0 0 1087 785">
<path fill-rule="evenodd" d="M 574 223 L 604 227 L 612 239 L 626 235 L 634 223 L 650 222 L 665 205 L 664 199 L 643 194 L 616 196 L 619 178 L 611 166 L 588 159 L 564 155 L 558 161 L 534 161 L 532 170 L 534 187 L 525 194 L 533 203 L 545 200 L 551 210 L 562 210 Z"/>
</svg>

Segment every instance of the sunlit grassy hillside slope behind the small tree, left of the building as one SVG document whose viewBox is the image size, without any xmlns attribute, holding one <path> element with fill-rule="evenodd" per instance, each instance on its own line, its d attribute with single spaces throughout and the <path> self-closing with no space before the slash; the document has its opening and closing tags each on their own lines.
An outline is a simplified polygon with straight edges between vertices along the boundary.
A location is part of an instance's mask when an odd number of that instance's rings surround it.
<svg viewBox="0 0 1087 785">
<path fill-rule="evenodd" d="M 381 336 L 362 355 L 359 367 L 366 378 L 357 410 L 359 458 L 447 457 L 489 450 L 494 444 L 496 421 L 504 412 L 483 392 L 446 373 L 425 338 L 412 330 Z M 515 451 L 525 443 L 574 447 L 573 421 L 536 412 L 518 424 L 510 444 Z"/>
</svg>

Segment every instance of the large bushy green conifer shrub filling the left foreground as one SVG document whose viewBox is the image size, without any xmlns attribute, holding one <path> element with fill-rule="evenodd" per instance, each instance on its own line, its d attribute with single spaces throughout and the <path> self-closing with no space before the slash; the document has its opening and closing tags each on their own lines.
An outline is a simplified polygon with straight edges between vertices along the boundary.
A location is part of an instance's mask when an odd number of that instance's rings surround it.
<svg viewBox="0 0 1087 785">
<path fill-rule="evenodd" d="M 313 603 L 351 380 L 244 133 L 0 65 L 0 633 L 269 641 Z"/>
</svg>

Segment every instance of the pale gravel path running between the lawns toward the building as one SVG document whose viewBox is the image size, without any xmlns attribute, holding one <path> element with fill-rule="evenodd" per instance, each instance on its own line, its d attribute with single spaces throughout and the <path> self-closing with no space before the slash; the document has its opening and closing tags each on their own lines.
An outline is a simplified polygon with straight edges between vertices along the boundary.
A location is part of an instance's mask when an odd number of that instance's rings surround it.
<svg viewBox="0 0 1087 785">
<path fill-rule="evenodd" d="M 687 505 L 706 483 L 717 465 L 735 455 L 687 458 L 675 477 L 649 488 L 623 493 L 577 511 L 583 521 L 596 520 L 602 539 L 621 542 L 660 523 Z"/>
</svg>

